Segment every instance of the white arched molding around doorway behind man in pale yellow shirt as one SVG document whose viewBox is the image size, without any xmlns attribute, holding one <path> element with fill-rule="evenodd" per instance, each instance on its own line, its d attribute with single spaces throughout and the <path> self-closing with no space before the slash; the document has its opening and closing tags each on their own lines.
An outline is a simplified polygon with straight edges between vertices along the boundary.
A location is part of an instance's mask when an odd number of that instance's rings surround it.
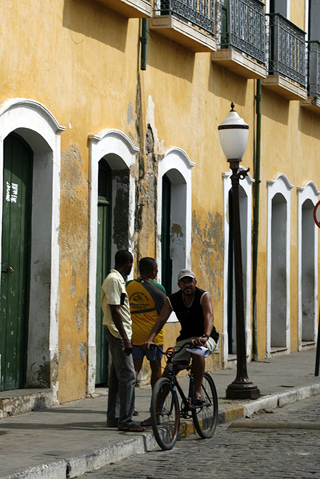
<svg viewBox="0 0 320 479">
<path fill-rule="evenodd" d="M 136 164 L 139 148 L 122 131 L 106 129 L 97 135 L 88 135 L 89 140 L 89 257 L 88 257 L 88 393 L 95 391 L 96 369 L 96 288 L 97 288 L 97 204 L 99 161 L 108 156 L 112 170 L 130 170 Z M 134 214 L 135 214 L 135 180 L 129 174 L 129 237 L 128 249 L 134 253 Z M 112 190 L 114 185 L 112 185 Z M 112 259 L 116 246 L 112 244 Z"/>
</svg>

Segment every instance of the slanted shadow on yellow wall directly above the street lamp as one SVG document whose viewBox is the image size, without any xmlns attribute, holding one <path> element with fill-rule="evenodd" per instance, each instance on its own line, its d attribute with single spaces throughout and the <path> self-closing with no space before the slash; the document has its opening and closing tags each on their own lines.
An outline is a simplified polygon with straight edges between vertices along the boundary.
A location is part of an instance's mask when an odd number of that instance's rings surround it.
<svg viewBox="0 0 320 479">
<path fill-rule="evenodd" d="M 211 62 L 208 90 L 217 98 L 234 101 L 236 105 L 245 106 L 247 79 L 236 75 L 223 66 Z"/>
</svg>

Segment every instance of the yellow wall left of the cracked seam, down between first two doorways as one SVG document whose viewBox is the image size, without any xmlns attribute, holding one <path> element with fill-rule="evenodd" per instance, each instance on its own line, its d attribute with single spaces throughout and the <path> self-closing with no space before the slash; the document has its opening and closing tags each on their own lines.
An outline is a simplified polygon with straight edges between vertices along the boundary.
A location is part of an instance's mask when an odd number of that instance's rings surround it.
<svg viewBox="0 0 320 479">
<path fill-rule="evenodd" d="M 138 21 L 95 1 L 0 5 L 0 100 L 35 99 L 66 127 L 61 137 L 59 400 L 86 393 L 88 134 L 134 139 Z M 14 19 L 14 21 L 13 21 Z M 8 42 L 10 41 L 10 44 Z M 133 75 L 132 75 L 133 73 Z"/>
</svg>

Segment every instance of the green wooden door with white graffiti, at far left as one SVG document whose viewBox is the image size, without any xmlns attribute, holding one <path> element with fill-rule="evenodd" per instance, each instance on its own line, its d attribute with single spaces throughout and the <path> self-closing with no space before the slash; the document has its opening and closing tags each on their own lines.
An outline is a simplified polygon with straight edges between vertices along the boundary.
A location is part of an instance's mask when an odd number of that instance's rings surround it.
<svg viewBox="0 0 320 479">
<path fill-rule="evenodd" d="M 25 385 L 29 298 L 32 162 L 18 135 L 4 140 L 0 296 L 0 390 Z"/>
</svg>

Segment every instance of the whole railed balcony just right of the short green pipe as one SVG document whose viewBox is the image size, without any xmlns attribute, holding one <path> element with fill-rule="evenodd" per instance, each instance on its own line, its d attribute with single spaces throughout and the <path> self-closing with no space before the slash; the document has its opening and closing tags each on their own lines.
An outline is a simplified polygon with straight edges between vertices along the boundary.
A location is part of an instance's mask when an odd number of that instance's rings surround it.
<svg viewBox="0 0 320 479">
<path fill-rule="evenodd" d="M 214 0 L 156 0 L 149 29 L 195 52 L 214 51 Z"/>
</svg>

